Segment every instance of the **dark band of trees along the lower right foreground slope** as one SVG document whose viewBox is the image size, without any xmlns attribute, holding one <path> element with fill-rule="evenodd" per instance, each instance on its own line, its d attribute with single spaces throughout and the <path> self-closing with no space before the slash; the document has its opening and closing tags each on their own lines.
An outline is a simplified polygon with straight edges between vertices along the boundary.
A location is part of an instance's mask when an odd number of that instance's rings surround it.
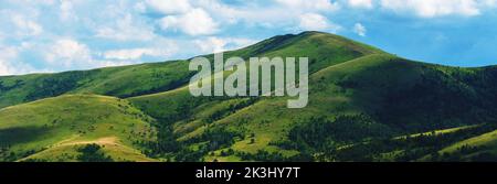
<svg viewBox="0 0 497 184">
<path fill-rule="evenodd" d="M 496 128 L 496 125 L 489 123 L 457 130 L 451 133 L 429 133 L 405 138 L 372 139 L 349 147 L 335 148 L 331 151 L 324 152 L 321 159 L 335 161 L 382 161 L 383 158 L 381 158 L 381 155 L 390 153 L 390 161 L 415 161 L 426 155 L 436 155 L 437 152 L 445 147 L 493 131 Z M 463 148 L 463 151 L 458 153 L 459 155 L 465 155 L 469 153 L 469 150 L 472 149 Z M 436 159 L 433 161 L 462 161 L 458 160 L 461 158 L 457 155 L 445 155 L 445 159 L 441 159 L 441 156 L 435 158 Z"/>
</svg>

